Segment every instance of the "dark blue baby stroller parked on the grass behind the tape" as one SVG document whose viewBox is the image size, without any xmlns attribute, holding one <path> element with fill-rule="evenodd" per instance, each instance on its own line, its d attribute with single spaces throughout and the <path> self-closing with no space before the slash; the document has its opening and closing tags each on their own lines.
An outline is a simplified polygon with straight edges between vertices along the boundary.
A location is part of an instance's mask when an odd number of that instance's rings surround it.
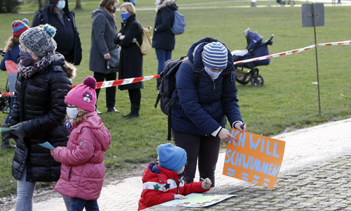
<svg viewBox="0 0 351 211">
<path fill-rule="evenodd" d="M 250 28 L 244 31 L 246 41 L 247 41 L 247 46 L 246 50 L 236 50 L 232 51 L 232 56 L 234 62 L 239 61 L 239 60 L 246 60 L 249 58 L 257 58 L 260 56 L 267 56 L 270 55 L 270 51 L 268 51 L 268 46 L 267 45 L 272 45 L 273 37 L 274 34 L 270 37 L 270 39 L 267 39 L 266 41 L 262 42 L 263 37 L 260 36 L 257 32 L 251 32 Z M 251 82 L 252 86 L 263 86 L 263 77 L 262 75 L 258 74 L 258 68 L 257 66 L 260 65 L 269 65 L 270 64 L 270 58 L 265 59 L 265 60 L 256 60 L 252 61 L 249 63 L 240 63 L 237 65 L 234 65 L 236 71 L 235 73 L 235 79 L 237 82 L 240 84 L 248 84 Z M 249 70 L 246 70 L 249 69 Z"/>
</svg>

